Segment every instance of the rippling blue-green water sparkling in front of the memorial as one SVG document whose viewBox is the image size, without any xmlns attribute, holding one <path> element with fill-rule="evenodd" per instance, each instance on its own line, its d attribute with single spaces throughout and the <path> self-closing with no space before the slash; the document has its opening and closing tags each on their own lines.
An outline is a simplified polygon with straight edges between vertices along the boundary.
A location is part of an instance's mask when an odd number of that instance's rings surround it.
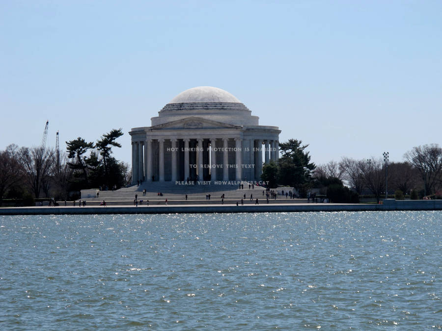
<svg viewBox="0 0 442 331">
<path fill-rule="evenodd" d="M 1 330 L 440 330 L 442 212 L 4 216 Z"/>
</svg>

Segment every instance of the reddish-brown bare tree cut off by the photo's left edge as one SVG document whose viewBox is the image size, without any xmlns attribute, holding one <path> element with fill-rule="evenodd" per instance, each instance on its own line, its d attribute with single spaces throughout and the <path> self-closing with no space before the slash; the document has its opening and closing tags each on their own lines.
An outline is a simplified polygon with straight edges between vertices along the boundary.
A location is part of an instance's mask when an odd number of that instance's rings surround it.
<svg viewBox="0 0 442 331">
<path fill-rule="evenodd" d="M 22 181 L 23 168 L 18 161 L 17 150 L 18 146 L 12 144 L 0 152 L 0 204 L 3 196 Z"/>
</svg>

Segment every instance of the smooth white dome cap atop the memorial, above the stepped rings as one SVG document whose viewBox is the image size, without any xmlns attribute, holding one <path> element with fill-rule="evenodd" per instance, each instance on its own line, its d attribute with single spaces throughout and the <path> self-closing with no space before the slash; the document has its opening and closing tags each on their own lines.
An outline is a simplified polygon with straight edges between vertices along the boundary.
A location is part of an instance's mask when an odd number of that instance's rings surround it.
<svg viewBox="0 0 442 331">
<path fill-rule="evenodd" d="M 217 87 L 199 86 L 181 92 L 170 103 L 194 103 L 194 102 L 217 102 L 217 103 L 241 103 L 230 93 Z"/>
</svg>

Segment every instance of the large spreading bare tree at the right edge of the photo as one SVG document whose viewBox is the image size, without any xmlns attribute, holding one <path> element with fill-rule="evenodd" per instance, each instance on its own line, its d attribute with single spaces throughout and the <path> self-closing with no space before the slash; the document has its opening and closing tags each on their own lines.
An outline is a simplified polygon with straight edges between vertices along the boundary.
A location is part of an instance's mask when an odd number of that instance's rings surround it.
<svg viewBox="0 0 442 331">
<path fill-rule="evenodd" d="M 404 157 L 419 171 L 424 181 L 425 195 L 434 193 L 441 185 L 442 148 L 438 144 L 417 146 Z"/>
</svg>

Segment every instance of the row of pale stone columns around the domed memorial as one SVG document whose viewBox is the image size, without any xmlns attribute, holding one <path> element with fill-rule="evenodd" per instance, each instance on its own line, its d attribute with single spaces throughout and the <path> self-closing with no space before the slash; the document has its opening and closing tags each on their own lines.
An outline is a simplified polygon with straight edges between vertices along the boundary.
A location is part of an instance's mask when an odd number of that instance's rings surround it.
<svg viewBox="0 0 442 331">
<path fill-rule="evenodd" d="M 155 137 L 133 141 L 132 184 L 188 179 L 260 180 L 262 152 L 268 164 L 278 159 L 278 151 L 276 139 Z"/>
</svg>

